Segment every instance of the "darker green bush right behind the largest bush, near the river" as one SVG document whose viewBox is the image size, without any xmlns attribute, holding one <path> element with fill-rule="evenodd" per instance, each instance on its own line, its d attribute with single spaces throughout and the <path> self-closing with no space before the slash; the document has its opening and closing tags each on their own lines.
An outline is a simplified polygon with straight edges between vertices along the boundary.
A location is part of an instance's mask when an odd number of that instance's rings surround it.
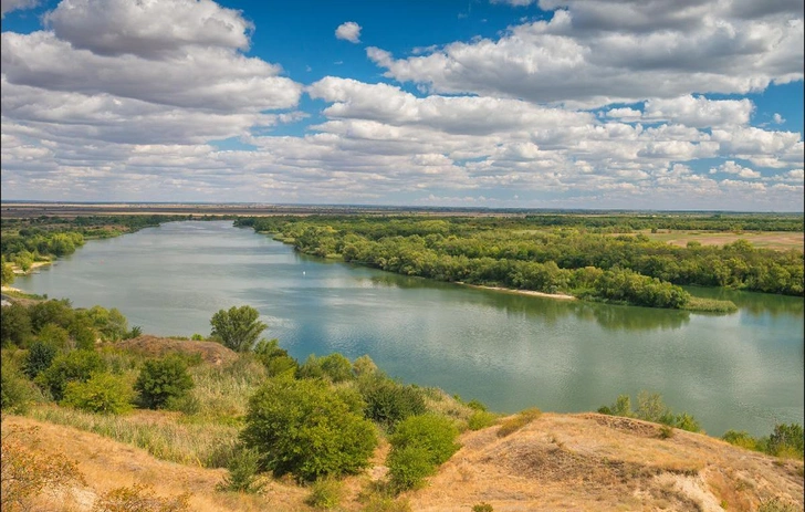
<svg viewBox="0 0 805 512">
<path fill-rule="evenodd" d="M 358 390 L 366 403 L 366 418 L 394 430 L 408 418 L 425 412 L 425 398 L 420 389 L 404 386 L 378 374 L 372 374 L 358 382 Z"/>
</svg>

